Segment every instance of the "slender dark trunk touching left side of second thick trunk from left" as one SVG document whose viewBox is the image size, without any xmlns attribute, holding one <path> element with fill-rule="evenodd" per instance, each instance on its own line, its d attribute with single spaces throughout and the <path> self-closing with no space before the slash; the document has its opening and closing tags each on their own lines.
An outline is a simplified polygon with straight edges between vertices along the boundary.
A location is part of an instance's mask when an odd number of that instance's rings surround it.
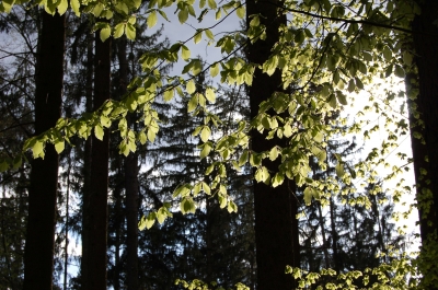
<svg viewBox="0 0 438 290">
<path fill-rule="evenodd" d="M 89 34 L 87 37 L 87 79 L 85 79 L 85 109 L 87 112 L 93 111 L 93 36 Z M 90 184 L 91 184 L 91 138 L 85 140 L 83 149 L 83 187 L 82 187 L 82 231 L 81 240 L 82 245 L 88 245 L 89 239 L 88 233 L 90 232 L 89 223 L 89 209 L 90 209 Z M 89 252 L 87 246 L 82 246 L 82 258 L 81 258 L 81 276 L 82 276 L 82 288 L 83 288 L 83 275 L 88 272 L 88 257 Z"/>
</svg>

